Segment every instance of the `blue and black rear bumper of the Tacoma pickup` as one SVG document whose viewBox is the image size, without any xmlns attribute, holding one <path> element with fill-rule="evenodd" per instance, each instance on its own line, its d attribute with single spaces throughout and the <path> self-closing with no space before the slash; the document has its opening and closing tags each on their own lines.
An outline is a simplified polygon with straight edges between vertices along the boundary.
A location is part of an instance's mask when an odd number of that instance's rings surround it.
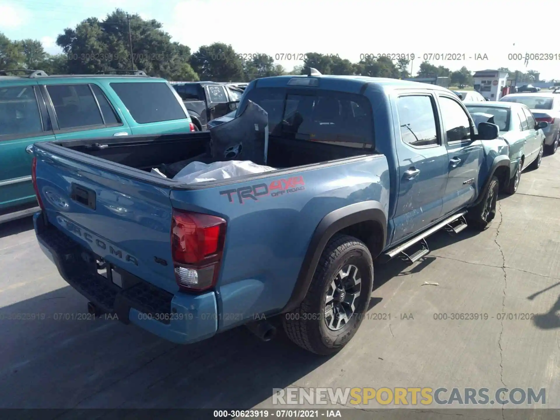
<svg viewBox="0 0 560 420">
<path fill-rule="evenodd" d="M 54 226 L 41 212 L 33 217 L 41 250 L 57 266 L 60 276 L 104 312 L 124 324 L 139 327 L 174 343 L 194 343 L 216 334 L 218 313 L 214 292 L 175 293 L 153 286 L 132 274 L 134 282 L 120 288 L 97 274 L 95 255 Z M 119 271 L 120 272 L 120 271 Z"/>
</svg>

